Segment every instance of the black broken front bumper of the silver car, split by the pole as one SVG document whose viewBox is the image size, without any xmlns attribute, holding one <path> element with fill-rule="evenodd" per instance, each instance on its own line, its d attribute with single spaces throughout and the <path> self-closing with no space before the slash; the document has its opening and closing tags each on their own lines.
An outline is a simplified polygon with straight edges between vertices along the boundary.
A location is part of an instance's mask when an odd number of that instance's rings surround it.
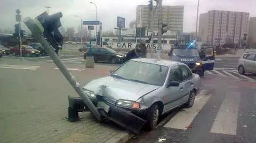
<svg viewBox="0 0 256 143">
<path fill-rule="evenodd" d="M 95 107 L 97 107 L 102 117 L 121 125 L 121 127 L 138 134 L 146 120 L 140 116 L 144 116 L 146 111 L 132 111 L 109 104 L 102 99 L 91 99 Z M 78 121 L 78 112 L 90 112 L 83 100 L 79 97 L 68 97 L 68 120 L 71 122 Z"/>
</svg>

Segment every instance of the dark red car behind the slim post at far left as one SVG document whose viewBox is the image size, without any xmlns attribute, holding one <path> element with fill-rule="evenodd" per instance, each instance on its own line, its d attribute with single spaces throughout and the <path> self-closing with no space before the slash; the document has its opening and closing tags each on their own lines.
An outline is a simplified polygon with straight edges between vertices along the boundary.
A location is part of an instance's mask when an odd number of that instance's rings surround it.
<svg viewBox="0 0 256 143">
<path fill-rule="evenodd" d="M 10 54 L 13 56 L 20 55 L 20 46 L 16 45 L 14 47 L 10 47 Z M 37 49 L 34 49 L 33 47 L 29 45 L 22 45 L 22 56 L 39 56 L 40 51 Z"/>
</svg>

